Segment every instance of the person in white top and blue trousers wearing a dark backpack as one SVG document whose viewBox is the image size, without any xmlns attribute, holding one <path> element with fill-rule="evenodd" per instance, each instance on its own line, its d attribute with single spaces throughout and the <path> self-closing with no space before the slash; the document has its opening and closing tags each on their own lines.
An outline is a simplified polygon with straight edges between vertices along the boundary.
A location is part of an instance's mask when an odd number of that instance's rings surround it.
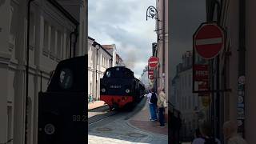
<svg viewBox="0 0 256 144">
<path fill-rule="evenodd" d="M 156 103 L 154 103 L 151 98 L 157 97 L 154 93 L 154 89 L 150 90 L 150 93 L 147 94 L 147 99 L 149 102 L 150 107 L 150 121 L 157 121 L 157 114 L 156 114 Z"/>
</svg>

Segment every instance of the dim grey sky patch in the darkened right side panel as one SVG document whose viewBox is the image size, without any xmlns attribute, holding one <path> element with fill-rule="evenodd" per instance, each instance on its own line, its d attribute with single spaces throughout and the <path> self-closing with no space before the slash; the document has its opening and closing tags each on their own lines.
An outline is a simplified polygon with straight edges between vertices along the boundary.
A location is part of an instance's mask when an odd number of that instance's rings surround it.
<svg viewBox="0 0 256 144">
<path fill-rule="evenodd" d="M 170 76 L 174 78 L 182 54 L 193 50 L 193 34 L 206 22 L 206 0 L 169 0 L 170 2 Z"/>
</svg>

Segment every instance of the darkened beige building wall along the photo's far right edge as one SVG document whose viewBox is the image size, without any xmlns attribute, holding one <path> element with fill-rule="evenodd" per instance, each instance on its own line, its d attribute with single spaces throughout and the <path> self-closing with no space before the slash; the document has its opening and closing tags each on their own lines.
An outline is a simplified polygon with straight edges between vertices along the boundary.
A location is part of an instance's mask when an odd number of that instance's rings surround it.
<svg viewBox="0 0 256 144">
<path fill-rule="evenodd" d="M 248 143 L 255 143 L 256 69 L 254 54 L 256 54 L 256 43 L 254 38 L 256 37 L 256 20 L 254 14 L 256 2 L 254 0 L 223 0 L 219 4 L 222 10 L 218 22 L 226 31 L 226 45 L 220 54 L 220 70 L 223 72 L 220 79 L 225 79 L 226 82 L 221 81 L 220 86 L 222 89 L 230 88 L 231 90 L 221 94 L 220 126 L 228 120 L 242 119 L 244 122 L 240 120 L 238 122 L 239 126 L 243 123 L 244 128 L 239 131 L 243 131 L 243 136 Z M 208 11 L 208 14 L 210 13 L 213 14 L 214 20 L 218 18 L 218 10 Z M 239 57 L 243 51 L 241 48 L 245 48 L 245 58 Z M 245 63 L 241 63 L 242 60 L 245 60 Z M 241 66 L 245 68 L 241 69 Z M 245 73 L 239 74 L 239 69 L 244 70 Z M 245 76 L 245 79 L 238 80 L 240 76 Z M 245 86 L 244 91 L 241 90 L 241 83 Z M 243 102 L 244 106 L 241 106 Z M 243 110 L 238 108 L 239 105 L 243 107 Z"/>
</svg>

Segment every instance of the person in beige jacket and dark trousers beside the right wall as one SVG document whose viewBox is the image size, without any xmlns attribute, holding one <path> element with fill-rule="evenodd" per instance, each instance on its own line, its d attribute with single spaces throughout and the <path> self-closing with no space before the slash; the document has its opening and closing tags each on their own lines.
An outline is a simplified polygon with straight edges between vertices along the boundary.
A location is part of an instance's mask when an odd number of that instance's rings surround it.
<svg viewBox="0 0 256 144">
<path fill-rule="evenodd" d="M 163 92 L 161 87 L 158 88 L 158 116 L 159 116 L 159 123 L 158 127 L 165 126 L 165 108 L 167 107 L 166 104 L 166 94 Z"/>
</svg>

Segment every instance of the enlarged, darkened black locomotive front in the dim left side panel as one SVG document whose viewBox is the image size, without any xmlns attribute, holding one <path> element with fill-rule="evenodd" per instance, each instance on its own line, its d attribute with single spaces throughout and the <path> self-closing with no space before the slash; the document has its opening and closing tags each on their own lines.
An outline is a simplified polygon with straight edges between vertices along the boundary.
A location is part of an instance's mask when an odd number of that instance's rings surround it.
<svg viewBox="0 0 256 144">
<path fill-rule="evenodd" d="M 38 144 L 86 143 L 86 57 L 58 63 L 46 92 L 38 95 Z"/>
</svg>

